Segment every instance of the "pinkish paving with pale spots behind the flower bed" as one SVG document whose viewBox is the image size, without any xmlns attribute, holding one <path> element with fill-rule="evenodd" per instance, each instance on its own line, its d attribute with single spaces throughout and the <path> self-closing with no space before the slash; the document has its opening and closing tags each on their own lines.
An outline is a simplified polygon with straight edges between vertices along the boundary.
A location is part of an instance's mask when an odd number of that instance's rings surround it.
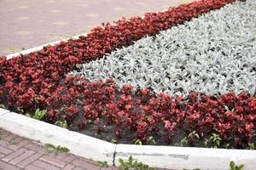
<svg viewBox="0 0 256 170">
<path fill-rule="evenodd" d="M 190 0 L 0 0 L 0 56 Z"/>
</svg>

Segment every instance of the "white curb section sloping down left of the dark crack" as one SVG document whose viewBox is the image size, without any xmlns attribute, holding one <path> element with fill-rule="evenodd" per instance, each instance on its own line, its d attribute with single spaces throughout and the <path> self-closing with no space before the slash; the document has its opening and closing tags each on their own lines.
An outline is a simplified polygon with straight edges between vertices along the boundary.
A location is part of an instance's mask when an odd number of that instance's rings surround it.
<svg viewBox="0 0 256 170">
<path fill-rule="evenodd" d="M 94 161 L 108 161 L 113 164 L 116 144 L 76 133 L 62 127 L 41 122 L 17 113 L 5 112 L 0 115 L 0 127 L 43 144 L 67 147 L 71 153 Z"/>
</svg>

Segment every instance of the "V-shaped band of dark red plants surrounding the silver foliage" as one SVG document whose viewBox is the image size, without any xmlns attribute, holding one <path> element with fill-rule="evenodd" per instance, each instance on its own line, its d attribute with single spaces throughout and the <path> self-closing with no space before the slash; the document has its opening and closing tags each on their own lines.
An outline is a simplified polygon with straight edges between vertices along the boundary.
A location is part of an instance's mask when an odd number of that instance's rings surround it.
<svg viewBox="0 0 256 170">
<path fill-rule="evenodd" d="M 107 140 L 144 144 L 176 144 L 247 148 L 255 142 L 256 99 L 247 94 L 188 96 L 154 94 L 148 89 L 119 89 L 113 80 L 88 82 L 67 77 L 75 65 L 89 62 L 115 48 L 153 36 L 234 0 L 204 0 L 158 14 L 119 20 L 92 30 L 87 37 L 53 47 L 0 59 L 0 102 L 10 110 L 32 113 L 47 109 L 46 122 L 66 120 L 72 129 Z M 249 1 L 251 2 L 251 1 Z M 217 133 L 212 140 L 212 133 Z M 214 137 L 214 135 L 213 135 Z M 200 140 L 197 140 L 199 138 Z M 207 141 L 206 140 L 206 141 Z M 230 145 L 228 145 L 230 144 Z"/>
</svg>

